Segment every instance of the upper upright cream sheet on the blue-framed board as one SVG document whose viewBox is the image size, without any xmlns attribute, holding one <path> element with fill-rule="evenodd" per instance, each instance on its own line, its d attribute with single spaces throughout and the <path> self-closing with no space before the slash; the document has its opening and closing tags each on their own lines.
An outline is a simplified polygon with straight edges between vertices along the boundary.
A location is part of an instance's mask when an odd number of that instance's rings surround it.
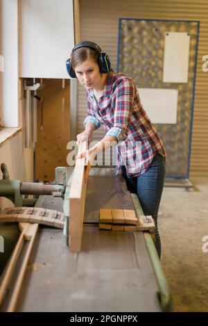
<svg viewBox="0 0 208 326">
<path fill-rule="evenodd" d="M 163 65 L 164 83 L 188 82 L 189 47 L 189 33 L 165 33 Z"/>
</svg>

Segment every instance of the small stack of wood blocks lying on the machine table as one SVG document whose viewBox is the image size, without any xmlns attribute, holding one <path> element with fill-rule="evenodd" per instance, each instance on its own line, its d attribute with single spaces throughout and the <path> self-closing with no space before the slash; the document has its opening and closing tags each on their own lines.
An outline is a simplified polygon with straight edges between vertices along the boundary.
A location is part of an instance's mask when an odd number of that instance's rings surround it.
<svg viewBox="0 0 208 326">
<path fill-rule="evenodd" d="M 150 215 L 139 215 L 129 209 L 100 209 L 99 228 L 112 231 L 155 231 Z"/>
</svg>

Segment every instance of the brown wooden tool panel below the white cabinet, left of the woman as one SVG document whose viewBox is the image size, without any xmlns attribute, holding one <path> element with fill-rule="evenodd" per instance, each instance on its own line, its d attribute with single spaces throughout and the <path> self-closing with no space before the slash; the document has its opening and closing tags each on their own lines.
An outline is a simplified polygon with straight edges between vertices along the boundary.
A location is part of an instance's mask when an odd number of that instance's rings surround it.
<svg viewBox="0 0 208 326">
<path fill-rule="evenodd" d="M 43 79 L 45 88 L 37 91 L 37 143 L 35 179 L 53 181 L 55 168 L 67 166 L 70 138 L 69 80 Z"/>
</svg>

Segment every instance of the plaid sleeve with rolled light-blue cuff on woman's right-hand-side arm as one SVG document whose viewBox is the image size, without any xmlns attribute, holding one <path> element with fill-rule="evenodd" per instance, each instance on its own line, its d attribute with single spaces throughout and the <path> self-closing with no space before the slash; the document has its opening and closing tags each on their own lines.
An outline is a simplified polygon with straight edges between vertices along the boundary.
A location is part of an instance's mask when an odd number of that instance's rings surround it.
<svg viewBox="0 0 208 326">
<path fill-rule="evenodd" d="M 107 131 L 105 136 L 113 136 L 118 142 L 123 142 L 128 136 L 128 125 L 134 101 L 134 84 L 125 79 L 116 87 L 116 101 L 114 108 L 114 127 Z"/>
</svg>

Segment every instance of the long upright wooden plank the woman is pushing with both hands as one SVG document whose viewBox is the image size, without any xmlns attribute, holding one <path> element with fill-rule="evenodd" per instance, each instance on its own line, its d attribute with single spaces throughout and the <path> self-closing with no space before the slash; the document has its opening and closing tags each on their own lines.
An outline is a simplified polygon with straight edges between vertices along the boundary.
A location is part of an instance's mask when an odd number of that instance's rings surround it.
<svg viewBox="0 0 208 326">
<path fill-rule="evenodd" d="M 81 150 L 87 149 L 87 142 L 79 146 Z M 78 158 L 73 170 L 71 189 L 69 192 L 69 248 L 71 252 L 79 252 L 83 236 L 83 220 L 85 211 L 85 158 Z"/>
</svg>

